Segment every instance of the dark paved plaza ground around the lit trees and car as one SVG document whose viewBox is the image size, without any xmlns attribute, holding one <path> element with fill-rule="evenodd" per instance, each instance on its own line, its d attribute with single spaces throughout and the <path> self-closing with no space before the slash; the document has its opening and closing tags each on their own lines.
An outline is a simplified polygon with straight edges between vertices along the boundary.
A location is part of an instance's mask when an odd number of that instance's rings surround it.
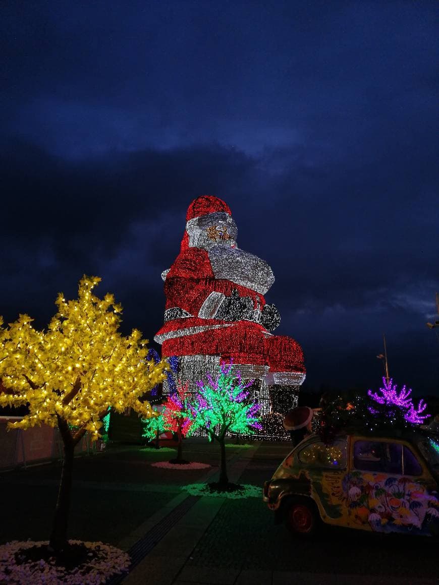
<svg viewBox="0 0 439 585">
<path fill-rule="evenodd" d="M 227 448 L 232 481 L 262 486 L 283 456 L 284 443 Z M 433 539 L 367 534 L 324 527 L 313 541 L 275 525 L 262 498 L 193 497 L 181 486 L 212 481 L 218 445 L 184 442 L 184 456 L 208 470 L 151 466 L 173 453 L 110 446 L 74 463 L 69 538 L 103 541 L 133 552 L 127 585 L 288 585 L 438 583 Z M 0 543 L 49 536 L 60 464 L 0 473 Z"/>
</svg>

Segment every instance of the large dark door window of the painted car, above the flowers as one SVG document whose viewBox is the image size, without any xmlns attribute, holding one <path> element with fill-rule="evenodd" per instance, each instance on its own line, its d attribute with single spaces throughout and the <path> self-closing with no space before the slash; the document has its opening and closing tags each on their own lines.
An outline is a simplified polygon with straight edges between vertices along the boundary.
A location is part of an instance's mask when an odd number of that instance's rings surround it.
<svg viewBox="0 0 439 585">
<path fill-rule="evenodd" d="M 354 467 L 367 472 L 402 474 L 402 445 L 390 441 L 355 441 Z"/>
</svg>

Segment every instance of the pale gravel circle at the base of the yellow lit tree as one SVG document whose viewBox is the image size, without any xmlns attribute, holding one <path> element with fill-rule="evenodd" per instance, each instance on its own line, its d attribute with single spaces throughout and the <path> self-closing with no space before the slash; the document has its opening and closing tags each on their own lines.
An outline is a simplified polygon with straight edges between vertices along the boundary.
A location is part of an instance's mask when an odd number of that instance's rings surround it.
<svg viewBox="0 0 439 585">
<path fill-rule="evenodd" d="M 49 541 L 12 541 L 0 545 L 0 583 L 32 583 L 32 585 L 98 585 L 119 573 L 128 573 L 131 564 L 128 553 L 102 542 L 68 541 L 71 545 L 84 545 L 90 549 L 90 565 L 83 563 L 67 570 L 62 565 L 45 560 L 23 562 L 18 565 L 16 554 L 37 546 L 47 546 Z"/>
</svg>

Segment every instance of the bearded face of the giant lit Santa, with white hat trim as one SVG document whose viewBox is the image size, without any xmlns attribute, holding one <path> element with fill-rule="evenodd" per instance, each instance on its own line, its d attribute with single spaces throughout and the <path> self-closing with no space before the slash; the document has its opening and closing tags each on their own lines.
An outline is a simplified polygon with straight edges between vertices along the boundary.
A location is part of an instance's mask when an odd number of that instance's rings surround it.
<svg viewBox="0 0 439 585">
<path fill-rule="evenodd" d="M 190 247 L 206 250 L 218 245 L 236 247 L 236 223 L 229 214 L 222 211 L 190 219 L 186 230 Z"/>
</svg>

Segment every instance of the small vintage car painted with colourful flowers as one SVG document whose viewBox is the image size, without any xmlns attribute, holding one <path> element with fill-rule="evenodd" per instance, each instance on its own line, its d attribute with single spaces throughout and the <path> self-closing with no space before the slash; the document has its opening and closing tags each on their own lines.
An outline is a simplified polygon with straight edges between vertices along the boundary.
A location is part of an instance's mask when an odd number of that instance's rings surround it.
<svg viewBox="0 0 439 585">
<path fill-rule="evenodd" d="M 277 522 L 311 535 L 317 525 L 439 534 L 439 435 L 347 432 L 304 439 L 263 487 Z"/>
</svg>

